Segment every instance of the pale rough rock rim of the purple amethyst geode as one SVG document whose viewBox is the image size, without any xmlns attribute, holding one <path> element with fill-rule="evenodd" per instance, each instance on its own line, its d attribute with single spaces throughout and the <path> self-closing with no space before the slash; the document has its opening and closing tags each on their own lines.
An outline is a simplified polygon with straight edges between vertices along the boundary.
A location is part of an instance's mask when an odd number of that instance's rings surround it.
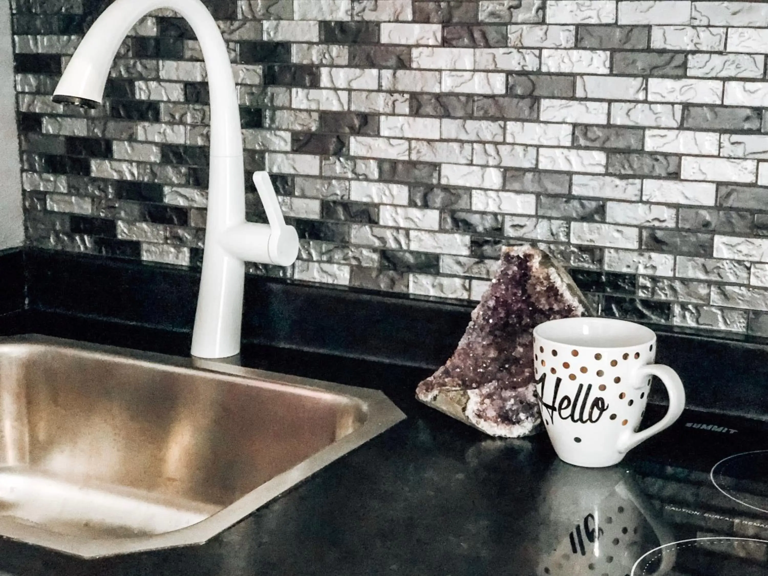
<svg viewBox="0 0 768 576">
<path fill-rule="evenodd" d="M 562 294 L 566 303 L 573 306 L 574 310 L 581 316 L 594 316 L 594 311 L 591 309 L 588 301 L 584 299 L 581 290 L 578 289 L 578 286 L 574 283 L 571 275 L 566 272 L 557 260 L 550 257 L 544 250 L 525 244 L 522 246 L 504 247 L 502 248 L 502 251 L 505 253 L 513 253 L 515 256 L 521 257 L 525 256 L 525 254 L 531 254 L 532 258 L 529 263 L 531 270 L 534 272 L 544 270 L 545 273 L 547 273 L 548 280 L 554 284 Z M 545 267 L 542 268 L 542 266 Z M 478 305 L 475 306 L 475 310 L 472 310 L 472 321 L 475 320 L 475 313 L 484 303 L 485 293 L 481 297 Z M 466 332 L 462 335 L 462 339 L 459 340 L 458 346 L 462 346 L 465 338 Z M 531 382 L 528 386 L 518 389 L 518 391 L 521 394 L 525 394 L 525 399 L 528 402 L 533 402 L 535 399 L 535 389 L 535 382 Z M 472 428 L 478 429 L 480 432 L 485 432 L 488 435 L 502 438 L 521 438 L 522 436 L 541 432 L 541 416 L 535 419 L 521 420 L 521 422 L 517 422 L 514 425 L 499 425 L 479 419 L 476 415 L 476 411 L 479 408 L 481 398 L 480 392 L 478 392 L 477 389 L 432 389 L 423 395 L 419 395 L 417 392 L 416 399 L 418 399 L 419 402 L 423 402 L 427 406 L 437 409 L 439 412 L 449 415 L 465 424 L 471 425 Z"/>
</svg>

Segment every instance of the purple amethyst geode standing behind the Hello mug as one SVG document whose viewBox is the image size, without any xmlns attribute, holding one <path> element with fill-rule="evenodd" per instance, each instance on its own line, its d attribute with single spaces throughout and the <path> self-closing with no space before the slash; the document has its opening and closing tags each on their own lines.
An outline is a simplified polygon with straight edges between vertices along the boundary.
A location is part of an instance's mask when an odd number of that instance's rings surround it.
<svg viewBox="0 0 768 576">
<path fill-rule="evenodd" d="M 571 276 L 548 254 L 530 246 L 504 248 L 458 348 L 419 384 L 416 397 L 492 436 L 538 432 L 533 329 L 589 313 Z"/>
</svg>

